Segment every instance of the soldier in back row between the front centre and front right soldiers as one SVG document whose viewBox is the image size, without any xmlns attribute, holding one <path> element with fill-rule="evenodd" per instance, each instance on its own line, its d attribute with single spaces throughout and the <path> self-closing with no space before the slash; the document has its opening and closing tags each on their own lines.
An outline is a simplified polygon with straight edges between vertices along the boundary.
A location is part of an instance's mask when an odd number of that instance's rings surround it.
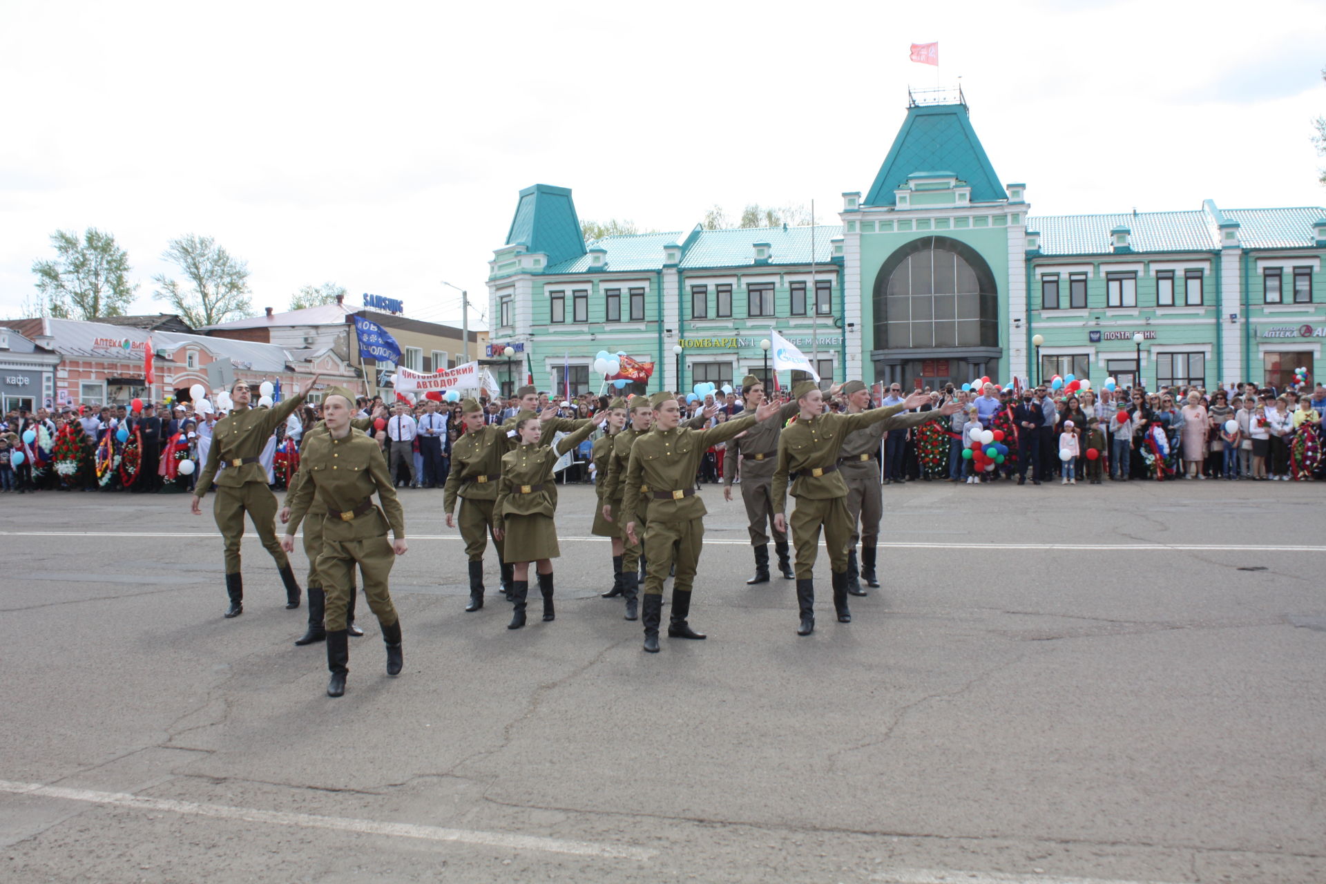
<svg viewBox="0 0 1326 884">
<path fill-rule="evenodd" d="M 741 379 L 741 396 L 745 411 L 737 417 L 753 415 L 764 400 L 764 384 L 754 375 Z M 797 403 L 789 402 L 778 414 L 757 423 L 740 439 L 728 443 L 728 453 L 723 459 L 723 500 L 732 500 L 732 480 L 737 474 L 737 460 L 741 461 L 741 500 L 747 506 L 747 530 L 751 533 L 751 546 L 754 549 L 754 577 L 747 583 L 769 582 L 769 534 L 765 526 L 773 522 L 773 468 L 778 463 L 778 433 L 788 417 L 797 414 Z M 737 455 L 741 455 L 739 459 Z M 784 579 L 793 579 L 792 557 L 785 531 L 773 529 L 773 547 L 778 553 L 778 571 Z"/>
</svg>

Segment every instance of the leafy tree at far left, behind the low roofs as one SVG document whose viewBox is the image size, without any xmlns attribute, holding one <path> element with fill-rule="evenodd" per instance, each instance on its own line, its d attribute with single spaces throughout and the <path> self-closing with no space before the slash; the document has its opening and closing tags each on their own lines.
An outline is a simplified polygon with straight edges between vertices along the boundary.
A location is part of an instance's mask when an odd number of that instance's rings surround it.
<svg viewBox="0 0 1326 884">
<path fill-rule="evenodd" d="M 41 315 L 74 319 L 123 315 L 137 282 L 129 281 L 129 253 L 110 233 L 89 227 L 50 235 L 54 261 L 33 261 Z"/>
</svg>

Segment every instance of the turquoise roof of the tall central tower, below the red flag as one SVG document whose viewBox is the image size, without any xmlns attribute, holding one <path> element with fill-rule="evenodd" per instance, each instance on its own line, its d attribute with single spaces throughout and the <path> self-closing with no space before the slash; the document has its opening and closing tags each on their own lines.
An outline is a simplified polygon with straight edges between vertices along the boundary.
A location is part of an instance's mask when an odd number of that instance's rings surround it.
<svg viewBox="0 0 1326 884">
<path fill-rule="evenodd" d="M 894 190 L 916 172 L 945 168 L 972 187 L 972 201 L 1006 199 L 994 167 L 968 119 L 967 105 L 920 105 L 907 109 L 907 119 L 894 138 L 866 205 L 894 205 Z"/>
</svg>

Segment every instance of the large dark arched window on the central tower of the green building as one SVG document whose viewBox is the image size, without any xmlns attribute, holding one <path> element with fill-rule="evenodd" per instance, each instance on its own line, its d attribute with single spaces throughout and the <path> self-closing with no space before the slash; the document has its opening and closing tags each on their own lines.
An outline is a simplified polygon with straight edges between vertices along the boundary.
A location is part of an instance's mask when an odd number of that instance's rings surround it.
<svg viewBox="0 0 1326 884">
<path fill-rule="evenodd" d="M 997 347 L 998 294 L 989 265 L 943 236 L 894 252 L 875 280 L 875 346 Z"/>
</svg>

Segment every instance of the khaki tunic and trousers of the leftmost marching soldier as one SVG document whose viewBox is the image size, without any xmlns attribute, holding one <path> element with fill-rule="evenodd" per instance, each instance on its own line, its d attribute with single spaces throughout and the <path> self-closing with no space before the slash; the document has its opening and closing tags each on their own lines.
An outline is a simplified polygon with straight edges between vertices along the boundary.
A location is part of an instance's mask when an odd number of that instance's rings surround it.
<svg viewBox="0 0 1326 884">
<path fill-rule="evenodd" d="M 276 539 L 276 494 L 267 486 L 267 469 L 256 459 L 276 428 L 302 404 L 304 394 L 296 394 L 273 408 L 232 411 L 212 428 L 212 447 L 207 451 L 207 464 L 198 476 L 194 494 L 206 496 L 215 481 L 212 517 L 224 538 L 227 574 L 240 573 L 244 513 L 248 513 L 263 549 L 272 554 L 277 567 L 290 563 Z M 253 463 L 239 463 L 249 459 Z"/>
</svg>

